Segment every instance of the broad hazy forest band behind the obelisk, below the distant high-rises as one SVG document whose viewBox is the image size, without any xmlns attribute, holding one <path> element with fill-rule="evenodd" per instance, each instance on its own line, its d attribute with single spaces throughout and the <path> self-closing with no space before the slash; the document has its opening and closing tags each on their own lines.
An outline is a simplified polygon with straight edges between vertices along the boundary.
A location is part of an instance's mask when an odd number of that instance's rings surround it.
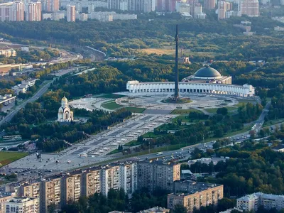
<svg viewBox="0 0 284 213">
<path fill-rule="evenodd" d="M 11 35 L 36 40 L 53 38 L 61 44 L 70 42 L 72 45 L 89 45 L 110 56 L 129 57 L 140 55 L 140 50 L 143 48 L 172 47 L 175 25 L 178 23 L 180 45 L 195 61 L 201 62 L 206 58 L 248 60 L 251 55 L 254 58 L 267 59 L 283 55 L 283 36 L 273 32 L 273 27 L 283 26 L 283 24 L 271 18 L 232 17 L 224 21 L 217 21 L 214 15 L 214 18 L 208 16 L 205 20 L 183 20 L 179 15 L 175 15 L 154 16 L 152 21 L 148 21 L 152 18 L 145 18 L 113 23 L 99 21 L 6 22 L 0 23 L 0 31 L 3 32 L 0 35 L 10 40 Z M 241 28 L 233 26 L 244 20 L 252 22 L 252 31 L 257 31 L 258 35 L 244 36 Z M 271 31 L 264 30 L 264 28 L 271 28 Z M 31 43 L 29 40 L 23 40 L 23 42 Z"/>
</svg>

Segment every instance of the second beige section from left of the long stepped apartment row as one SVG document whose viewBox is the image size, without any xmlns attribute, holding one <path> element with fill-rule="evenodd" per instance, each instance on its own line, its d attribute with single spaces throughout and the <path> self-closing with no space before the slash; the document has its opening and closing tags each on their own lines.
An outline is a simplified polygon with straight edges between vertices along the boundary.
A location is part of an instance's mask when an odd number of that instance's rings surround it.
<svg viewBox="0 0 284 213">
<path fill-rule="evenodd" d="M 61 205 L 62 178 L 43 180 L 40 183 L 40 213 L 47 212 L 50 204 L 60 208 Z"/>
</svg>

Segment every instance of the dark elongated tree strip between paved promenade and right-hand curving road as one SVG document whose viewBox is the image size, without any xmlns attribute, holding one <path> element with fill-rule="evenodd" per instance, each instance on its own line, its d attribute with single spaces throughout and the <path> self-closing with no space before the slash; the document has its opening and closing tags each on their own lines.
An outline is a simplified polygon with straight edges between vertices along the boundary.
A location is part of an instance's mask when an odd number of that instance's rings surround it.
<svg viewBox="0 0 284 213">
<path fill-rule="evenodd" d="M 207 138 L 222 138 L 227 133 L 232 131 L 239 131 L 243 129 L 244 123 L 247 121 L 253 121 L 261 114 L 261 104 L 248 103 L 239 107 L 239 114 L 234 116 L 215 114 L 208 119 L 197 121 L 195 124 L 185 126 L 184 129 L 176 131 L 174 134 L 166 134 L 163 130 L 163 126 L 155 129 L 154 133 L 160 135 L 158 138 L 152 138 L 151 140 L 141 140 L 143 144 L 141 149 L 147 150 L 149 146 L 151 148 L 159 146 L 168 146 L 173 144 L 190 145 L 206 140 Z M 190 113 L 189 117 L 194 116 L 195 113 Z M 204 116 L 206 118 L 207 116 Z M 165 125 L 165 124 L 164 124 Z M 173 125 L 173 124 L 172 124 Z M 181 122 L 176 121 L 175 126 L 181 126 Z M 142 138 L 143 139 L 143 138 Z"/>
</svg>

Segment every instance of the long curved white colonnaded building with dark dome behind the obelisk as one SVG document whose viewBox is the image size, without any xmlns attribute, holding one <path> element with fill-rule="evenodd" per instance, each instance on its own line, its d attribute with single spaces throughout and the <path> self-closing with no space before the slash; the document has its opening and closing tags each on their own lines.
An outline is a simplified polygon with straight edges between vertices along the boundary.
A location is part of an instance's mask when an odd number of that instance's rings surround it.
<svg viewBox="0 0 284 213">
<path fill-rule="evenodd" d="M 126 89 L 131 93 L 169 94 L 175 92 L 175 82 L 129 81 Z M 253 86 L 231 84 L 230 76 L 222 76 L 211 67 L 203 67 L 195 75 L 179 82 L 179 89 L 180 94 L 226 94 L 238 97 L 252 97 L 255 94 Z"/>
</svg>

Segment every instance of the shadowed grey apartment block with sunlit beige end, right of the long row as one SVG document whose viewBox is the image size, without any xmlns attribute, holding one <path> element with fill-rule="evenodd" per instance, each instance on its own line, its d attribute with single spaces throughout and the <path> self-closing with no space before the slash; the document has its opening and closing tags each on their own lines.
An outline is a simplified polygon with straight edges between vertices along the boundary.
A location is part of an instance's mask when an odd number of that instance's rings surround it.
<svg viewBox="0 0 284 213">
<path fill-rule="evenodd" d="M 160 160 L 143 160 L 137 163 L 138 188 L 147 187 L 150 191 L 160 187 L 173 192 L 173 182 L 180 180 L 180 164 L 163 163 Z"/>
</svg>

